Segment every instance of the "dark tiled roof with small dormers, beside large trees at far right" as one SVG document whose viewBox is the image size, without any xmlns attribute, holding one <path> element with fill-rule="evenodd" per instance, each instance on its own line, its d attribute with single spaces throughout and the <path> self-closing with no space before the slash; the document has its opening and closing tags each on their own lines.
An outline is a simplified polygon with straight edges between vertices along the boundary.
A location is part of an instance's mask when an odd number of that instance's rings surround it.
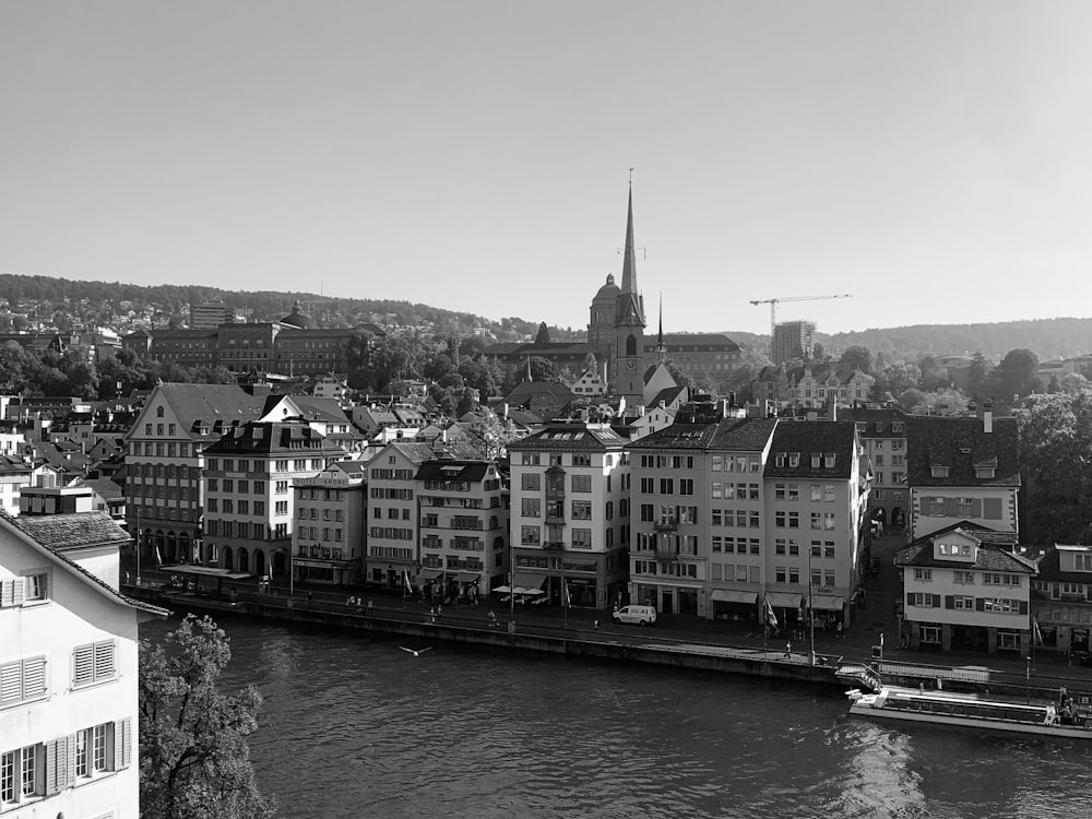
<svg viewBox="0 0 1092 819">
<path fill-rule="evenodd" d="M 978 418 L 912 415 L 906 419 L 906 483 L 910 486 L 1020 486 L 1016 418 L 994 418 L 986 432 Z M 975 477 L 976 466 L 994 477 Z M 934 477 L 947 466 L 948 477 Z"/>
</svg>

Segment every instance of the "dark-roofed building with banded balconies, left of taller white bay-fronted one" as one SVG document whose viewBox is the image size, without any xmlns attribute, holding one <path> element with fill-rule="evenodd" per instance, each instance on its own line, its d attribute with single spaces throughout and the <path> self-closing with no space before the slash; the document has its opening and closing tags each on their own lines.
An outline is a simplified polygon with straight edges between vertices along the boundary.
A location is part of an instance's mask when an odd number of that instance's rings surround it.
<svg viewBox="0 0 1092 819">
<path fill-rule="evenodd" d="M 497 464 L 435 459 L 417 471 L 420 571 L 434 597 L 474 601 L 507 582 L 509 494 Z"/>
</svg>

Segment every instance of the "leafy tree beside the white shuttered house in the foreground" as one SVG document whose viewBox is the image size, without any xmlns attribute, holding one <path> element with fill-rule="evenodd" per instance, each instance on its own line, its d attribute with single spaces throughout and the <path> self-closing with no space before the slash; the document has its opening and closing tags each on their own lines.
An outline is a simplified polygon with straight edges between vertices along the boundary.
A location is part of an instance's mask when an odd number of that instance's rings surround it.
<svg viewBox="0 0 1092 819">
<path fill-rule="evenodd" d="M 262 698 L 217 689 L 229 640 L 209 617 L 187 616 L 163 644 L 140 643 L 141 815 L 155 819 L 266 819 L 247 736 Z"/>
</svg>

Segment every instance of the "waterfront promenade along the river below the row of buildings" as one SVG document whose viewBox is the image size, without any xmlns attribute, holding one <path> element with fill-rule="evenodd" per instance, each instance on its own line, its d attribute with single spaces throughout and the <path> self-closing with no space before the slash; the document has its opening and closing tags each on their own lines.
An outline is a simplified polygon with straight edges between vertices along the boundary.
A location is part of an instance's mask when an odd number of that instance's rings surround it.
<svg viewBox="0 0 1092 819">
<path fill-rule="evenodd" d="M 894 553 L 904 544 L 901 536 L 887 536 L 873 545 L 873 554 L 880 559 L 881 569 L 877 577 L 865 581 L 865 603 L 855 612 L 853 624 L 843 636 L 816 630 L 815 652 L 820 664 L 828 666 L 836 664 L 841 658 L 847 662 L 866 662 L 876 658 L 882 636 L 882 658 L 887 663 L 905 666 L 936 666 L 938 669 L 989 668 L 995 678 L 1005 679 L 1010 687 L 1028 682 L 1028 689 L 1037 696 L 1048 697 L 1052 689 L 1066 685 L 1071 690 L 1092 691 L 1092 669 L 1070 666 L 1064 654 L 1045 649 L 1036 651 L 1034 657 L 1019 655 L 985 654 L 969 652 L 931 653 L 912 651 L 899 646 L 899 622 L 895 614 L 895 601 L 900 596 L 900 585 L 892 565 Z M 154 577 L 155 582 L 166 580 L 162 574 L 144 573 L 145 580 Z M 256 605 L 264 607 L 287 608 L 288 589 L 285 585 L 274 585 L 260 590 L 257 583 L 239 582 L 237 584 L 237 606 Z M 130 589 L 130 591 L 132 591 Z M 347 605 L 349 597 L 354 604 Z M 178 613 L 185 613 L 187 603 L 194 608 L 206 609 L 216 606 L 213 602 L 178 594 L 174 601 L 165 601 L 165 605 Z M 803 640 L 794 639 L 791 651 L 788 641 L 784 638 L 767 638 L 763 630 L 755 622 L 708 620 L 679 615 L 662 615 L 655 626 L 641 628 L 639 626 L 619 625 L 610 621 L 609 612 L 585 608 L 563 609 L 557 606 L 518 605 L 514 608 L 503 603 L 499 595 L 483 598 L 477 605 L 449 605 L 442 608 L 442 614 L 434 619 L 432 606 L 418 596 L 399 594 L 387 590 L 375 589 L 329 589 L 320 586 L 299 586 L 293 590 L 290 607 L 296 609 L 297 617 L 286 619 L 305 620 L 305 614 L 310 612 L 317 617 L 329 615 L 331 618 L 344 618 L 352 626 L 356 618 L 373 620 L 372 624 L 358 622 L 358 626 L 370 630 L 383 630 L 379 624 L 388 624 L 394 633 L 396 629 L 412 629 L 416 625 L 440 626 L 447 633 L 451 630 L 495 631 L 496 637 L 509 632 L 509 622 L 515 622 L 515 633 L 520 636 L 537 636 L 543 639 L 561 641 L 579 641 L 583 645 L 596 643 L 604 646 L 626 644 L 630 646 L 655 646 L 661 653 L 670 652 L 690 656 L 735 656 L 749 664 L 811 665 L 810 633 L 806 630 Z M 223 606 L 232 610 L 232 606 Z M 490 626 L 490 613 L 496 617 L 497 625 Z M 266 614 L 276 614 L 266 612 Z M 410 633 L 410 632 L 402 632 Z M 425 633 L 428 633 L 427 631 Z M 500 642 L 499 639 L 494 641 Z M 567 652 L 571 653 L 571 652 Z M 589 655 L 593 655 L 589 653 Z M 698 666 L 701 667 L 701 666 Z M 769 670 L 769 665 L 767 666 Z M 922 672 L 923 677 L 928 673 Z M 937 676 L 942 676 L 938 672 Z"/>
</svg>

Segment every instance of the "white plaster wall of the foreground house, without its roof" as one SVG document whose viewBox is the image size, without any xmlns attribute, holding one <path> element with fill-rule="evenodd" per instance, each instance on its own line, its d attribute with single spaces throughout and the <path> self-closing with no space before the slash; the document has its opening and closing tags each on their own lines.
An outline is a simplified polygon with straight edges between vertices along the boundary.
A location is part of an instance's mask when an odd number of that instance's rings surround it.
<svg viewBox="0 0 1092 819">
<path fill-rule="evenodd" d="M 24 572 L 48 572 L 44 603 L 15 604 L 12 592 L 23 585 Z M 7 585 L 4 585 L 7 584 Z M 7 590 L 7 591 L 5 591 Z M 97 591 L 86 579 L 34 550 L 0 526 L 0 751 L 43 747 L 43 816 L 99 816 L 114 811 L 138 816 L 136 763 L 138 622 L 145 616 Z M 98 668 L 108 667 L 112 649 L 114 675 L 86 687 L 73 687 L 74 650 L 99 646 Z M 94 663 L 94 652 L 92 653 Z M 45 664 L 35 663 L 44 657 Z M 16 678 L 13 669 L 19 667 Z M 15 686 L 44 695 L 15 700 Z M 14 704 L 13 704 L 14 703 Z M 110 724 L 110 758 L 120 769 L 73 788 L 74 735 Z M 128 761 L 129 764 L 124 765 Z M 16 811 L 19 812 L 19 811 Z M 22 814 L 20 814 L 22 815 Z M 38 814 L 36 812 L 35 816 Z"/>
</svg>

